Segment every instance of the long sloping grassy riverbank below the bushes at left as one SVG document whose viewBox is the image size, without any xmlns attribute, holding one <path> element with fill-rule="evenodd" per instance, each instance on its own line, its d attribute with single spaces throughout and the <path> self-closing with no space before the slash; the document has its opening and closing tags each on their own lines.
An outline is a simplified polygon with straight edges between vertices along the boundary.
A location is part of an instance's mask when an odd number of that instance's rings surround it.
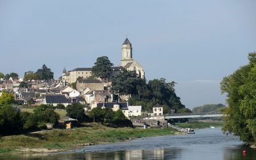
<svg viewBox="0 0 256 160">
<path fill-rule="evenodd" d="M 159 135 L 174 134 L 176 130 L 167 129 L 132 129 L 132 128 L 109 128 L 101 124 L 85 124 L 71 130 L 53 129 L 43 130 L 30 134 L 12 135 L 0 137 L 0 154 L 17 153 L 20 151 L 45 148 L 49 151 L 70 150 L 86 145 L 102 143 L 115 143 L 130 140 L 132 138 L 153 137 Z M 25 150 L 27 148 L 27 150 Z"/>
</svg>

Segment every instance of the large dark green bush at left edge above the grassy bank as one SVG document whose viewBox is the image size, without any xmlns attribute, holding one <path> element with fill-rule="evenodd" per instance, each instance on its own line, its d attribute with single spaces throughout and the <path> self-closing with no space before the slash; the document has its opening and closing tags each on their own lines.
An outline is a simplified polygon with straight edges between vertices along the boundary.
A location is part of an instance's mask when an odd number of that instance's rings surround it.
<svg viewBox="0 0 256 160">
<path fill-rule="evenodd" d="M 10 105 L 0 107 L 0 135 L 19 133 L 22 126 L 19 109 Z"/>
</svg>

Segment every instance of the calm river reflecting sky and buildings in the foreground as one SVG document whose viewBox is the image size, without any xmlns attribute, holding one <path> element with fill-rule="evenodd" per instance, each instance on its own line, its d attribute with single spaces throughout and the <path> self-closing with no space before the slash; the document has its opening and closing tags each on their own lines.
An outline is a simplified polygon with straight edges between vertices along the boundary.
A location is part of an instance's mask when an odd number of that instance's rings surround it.
<svg viewBox="0 0 256 160">
<path fill-rule="evenodd" d="M 255 149 L 248 148 L 238 137 L 223 134 L 220 128 L 195 131 L 196 134 L 138 138 L 62 153 L 20 154 L 0 159 L 256 159 Z"/>
</svg>

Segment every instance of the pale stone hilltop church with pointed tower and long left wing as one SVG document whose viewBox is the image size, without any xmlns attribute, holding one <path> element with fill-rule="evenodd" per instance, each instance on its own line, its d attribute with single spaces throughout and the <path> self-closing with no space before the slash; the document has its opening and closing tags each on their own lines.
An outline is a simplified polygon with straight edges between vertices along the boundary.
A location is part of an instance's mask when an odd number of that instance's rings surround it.
<svg viewBox="0 0 256 160">
<path fill-rule="evenodd" d="M 125 68 L 128 71 L 135 71 L 139 78 L 145 79 L 145 71 L 143 67 L 133 59 L 133 47 L 131 47 L 131 42 L 128 38 L 126 38 L 125 42 L 122 44 L 122 59 L 120 66 L 112 66 L 114 72 L 121 71 L 122 68 Z M 71 71 L 66 71 L 64 68 L 61 79 L 68 83 L 73 83 L 76 82 L 78 77 L 88 78 L 92 75 L 91 71 L 92 68 L 75 68 Z"/>
</svg>

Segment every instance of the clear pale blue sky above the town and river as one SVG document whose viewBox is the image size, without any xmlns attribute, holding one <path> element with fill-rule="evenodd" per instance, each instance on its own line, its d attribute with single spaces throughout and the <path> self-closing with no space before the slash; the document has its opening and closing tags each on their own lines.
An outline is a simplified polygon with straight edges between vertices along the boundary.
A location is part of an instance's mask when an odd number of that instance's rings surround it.
<svg viewBox="0 0 256 160">
<path fill-rule="evenodd" d="M 256 51 L 256 1 L 0 0 L 0 72 L 59 78 L 106 55 L 118 66 L 126 35 L 147 81 L 175 81 L 187 108 L 223 103 L 220 81 Z"/>
</svg>

